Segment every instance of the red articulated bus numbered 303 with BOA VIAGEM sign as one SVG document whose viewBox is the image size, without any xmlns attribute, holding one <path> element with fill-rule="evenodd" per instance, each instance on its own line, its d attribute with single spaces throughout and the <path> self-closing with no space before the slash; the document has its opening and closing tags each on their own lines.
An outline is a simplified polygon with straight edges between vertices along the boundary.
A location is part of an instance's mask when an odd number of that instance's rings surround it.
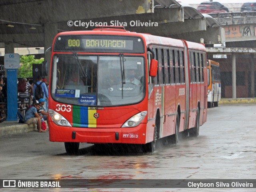
<svg viewBox="0 0 256 192">
<path fill-rule="evenodd" d="M 142 144 L 198 136 L 206 122 L 203 44 L 126 31 L 61 32 L 49 85 L 50 141 L 75 153 L 80 142 Z"/>
</svg>

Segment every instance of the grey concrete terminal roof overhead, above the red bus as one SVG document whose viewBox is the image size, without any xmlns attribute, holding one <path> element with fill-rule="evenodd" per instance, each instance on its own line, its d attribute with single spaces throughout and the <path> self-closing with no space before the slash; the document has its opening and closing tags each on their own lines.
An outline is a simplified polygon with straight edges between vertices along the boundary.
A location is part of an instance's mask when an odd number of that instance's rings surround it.
<svg viewBox="0 0 256 192">
<path fill-rule="evenodd" d="M 46 24 L 57 32 L 91 30 L 94 26 L 68 26 L 68 21 L 126 22 L 126 30 L 205 43 L 221 43 L 221 26 L 213 18 L 175 0 L 0 0 L 0 47 L 44 47 Z M 158 26 L 133 25 L 157 23 Z M 9 26 L 8 26 L 9 24 Z M 14 26 L 14 27 L 10 27 Z M 210 29 L 213 29 L 213 33 Z M 200 40 L 199 38 L 199 40 Z"/>
</svg>

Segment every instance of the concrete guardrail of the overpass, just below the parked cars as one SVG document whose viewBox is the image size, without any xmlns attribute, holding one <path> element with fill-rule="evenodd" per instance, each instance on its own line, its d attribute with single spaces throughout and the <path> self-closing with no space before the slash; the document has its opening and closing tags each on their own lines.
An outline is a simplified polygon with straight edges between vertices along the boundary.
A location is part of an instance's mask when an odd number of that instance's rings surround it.
<svg viewBox="0 0 256 192">
<path fill-rule="evenodd" d="M 209 13 L 220 25 L 256 24 L 256 12 Z"/>
</svg>

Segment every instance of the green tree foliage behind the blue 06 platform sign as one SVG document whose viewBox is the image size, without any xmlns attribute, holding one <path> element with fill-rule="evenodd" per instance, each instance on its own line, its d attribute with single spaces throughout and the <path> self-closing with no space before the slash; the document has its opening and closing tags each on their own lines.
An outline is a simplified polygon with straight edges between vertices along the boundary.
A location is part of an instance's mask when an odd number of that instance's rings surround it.
<svg viewBox="0 0 256 192">
<path fill-rule="evenodd" d="M 18 78 L 32 78 L 32 64 L 41 64 L 44 58 L 34 59 L 34 55 L 20 56 L 20 68 L 18 68 Z"/>
</svg>

